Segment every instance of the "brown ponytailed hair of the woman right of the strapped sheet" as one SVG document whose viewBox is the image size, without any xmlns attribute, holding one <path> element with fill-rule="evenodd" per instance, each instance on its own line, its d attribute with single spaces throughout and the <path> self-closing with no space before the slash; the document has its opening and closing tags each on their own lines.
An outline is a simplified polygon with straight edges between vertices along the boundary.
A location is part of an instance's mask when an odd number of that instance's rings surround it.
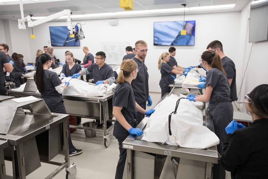
<svg viewBox="0 0 268 179">
<path fill-rule="evenodd" d="M 212 68 L 219 69 L 221 72 L 223 72 L 225 76 L 227 76 L 226 72 L 223 69 L 221 58 L 213 50 L 206 50 L 201 55 L 201 58 L 202 60 L 207 61 L 208 64 L 211 65 Z"/>
</svg>

